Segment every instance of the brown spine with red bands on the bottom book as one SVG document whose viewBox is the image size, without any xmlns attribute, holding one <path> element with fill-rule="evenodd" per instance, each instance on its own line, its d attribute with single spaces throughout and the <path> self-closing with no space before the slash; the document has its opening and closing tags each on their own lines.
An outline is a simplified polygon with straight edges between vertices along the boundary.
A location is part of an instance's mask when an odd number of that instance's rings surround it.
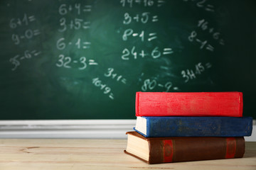
<svg viewBox="0 0 256 170">
<path fill-rule="evenodd" d="M 150 138 L 148 141 L 149 164 L 241 158 L 245 153 L 243 137 Z"/>
</svg>

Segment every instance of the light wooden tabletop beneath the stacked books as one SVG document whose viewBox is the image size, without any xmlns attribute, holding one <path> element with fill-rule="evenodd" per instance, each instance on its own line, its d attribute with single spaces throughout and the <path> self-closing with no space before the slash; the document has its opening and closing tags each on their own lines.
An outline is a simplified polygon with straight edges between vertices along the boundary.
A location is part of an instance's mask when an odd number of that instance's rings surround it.
<svg viewBox="0 0 256 170">
<path fill-rule="evenodd" d="M 242 159 L 154 165 L 124 154 L 126 145 L 127 140 L 0 139 L 0 169 L 256 169 L 256 142 L 246 142 Z"/>
</svg>

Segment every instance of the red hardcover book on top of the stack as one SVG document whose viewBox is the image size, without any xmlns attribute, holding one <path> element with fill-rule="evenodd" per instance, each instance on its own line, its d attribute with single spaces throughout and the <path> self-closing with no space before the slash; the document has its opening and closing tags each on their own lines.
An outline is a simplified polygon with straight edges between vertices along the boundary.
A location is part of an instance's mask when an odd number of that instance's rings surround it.
<svg viewBox="0 0 256 170">
<path fill-rule="evenodd" d="M 137 92 L 136 116 L 242 117 L 241 92 Z"/>
</svg>

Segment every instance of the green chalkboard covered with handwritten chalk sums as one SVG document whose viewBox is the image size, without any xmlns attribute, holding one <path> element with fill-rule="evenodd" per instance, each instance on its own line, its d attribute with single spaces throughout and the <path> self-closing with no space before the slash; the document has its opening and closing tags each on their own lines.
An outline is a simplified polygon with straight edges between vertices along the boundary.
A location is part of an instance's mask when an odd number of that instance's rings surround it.
<svg viewBox="0 0 256 170">
<path fill-rule="evenodd" d="M 0 119 L 135 118 L 136 91 L 242 91 L 255 1 L 0 2 Z"/>
</svg>

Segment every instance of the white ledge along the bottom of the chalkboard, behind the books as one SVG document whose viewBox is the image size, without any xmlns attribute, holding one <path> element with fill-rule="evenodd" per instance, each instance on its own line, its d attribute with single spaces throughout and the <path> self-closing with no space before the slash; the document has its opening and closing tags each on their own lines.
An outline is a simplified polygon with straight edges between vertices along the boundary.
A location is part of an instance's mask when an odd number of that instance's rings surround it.
<svg viewBox="0 0 256 170">
<path fill-rule="evenodd" d="M 0 138 L 126 139 L 136 120 L 0 120 Z M 251 137 L 256 142 L 256 121 Z"/>
</svg>

